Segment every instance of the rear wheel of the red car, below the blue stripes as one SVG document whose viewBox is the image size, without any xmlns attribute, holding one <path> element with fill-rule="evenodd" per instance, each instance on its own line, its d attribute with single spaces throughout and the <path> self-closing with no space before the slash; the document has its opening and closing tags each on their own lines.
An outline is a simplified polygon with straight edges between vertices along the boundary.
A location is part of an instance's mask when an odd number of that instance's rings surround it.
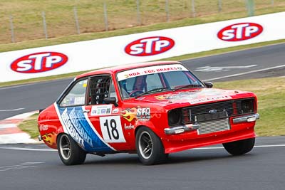
<svg viewBox="0 0 285 190">
<path fill-rule="evenodd" d="M 57 146 L 59 157 L 67 166 L 83 164 L 86 159 L 86 152 L 78 146 L 69 134 L 61 134 L 58 137 Z"/>
</svg>

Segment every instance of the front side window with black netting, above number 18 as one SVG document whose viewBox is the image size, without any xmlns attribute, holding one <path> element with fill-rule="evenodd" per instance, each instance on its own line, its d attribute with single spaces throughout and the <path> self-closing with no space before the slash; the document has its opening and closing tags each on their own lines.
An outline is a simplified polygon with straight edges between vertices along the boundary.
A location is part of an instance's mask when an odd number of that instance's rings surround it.
<svg viewBox="0 0 285 190">
<path fill-rule="evenodd" d="M 104 103 L 104 98 L 109 97 L 111 79 L 110 76 L 95 76 L 90 79 L 89 105 Z"/>
</svg>

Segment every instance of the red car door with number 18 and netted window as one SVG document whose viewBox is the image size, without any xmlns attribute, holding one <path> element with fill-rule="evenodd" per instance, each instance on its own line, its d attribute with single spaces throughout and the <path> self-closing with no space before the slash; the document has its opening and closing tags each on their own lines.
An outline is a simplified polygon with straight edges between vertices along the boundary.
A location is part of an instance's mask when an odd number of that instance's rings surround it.
<svg viewBox="0 0 285 190">
<path fill-rule="evenodd" d="M 105 144 L 118 151 L 128 150 L 121 108 L 117 104 L 106 104 L 105 97 L 116 97 L 118 100 L 111 75 L 91 77 L 88 84 L 88 105 L 85 107 L 90 122 Z"/>
</svg>

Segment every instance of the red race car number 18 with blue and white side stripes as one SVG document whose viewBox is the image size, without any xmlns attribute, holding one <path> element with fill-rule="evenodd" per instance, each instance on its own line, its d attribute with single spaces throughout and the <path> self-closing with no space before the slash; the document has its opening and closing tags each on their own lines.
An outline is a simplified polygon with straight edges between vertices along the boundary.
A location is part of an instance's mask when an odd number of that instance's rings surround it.
<svg viewBox="0 0 285 190">
<path fill-rule="evenodd" d="M 161 61 L 79 75 L 40 112 L 38 130 L 66 165 L 119 152 L 137 152 L 150 165 L 212 144 L 245 154 L 257 119 L 254 93 L 214 89 L 182 63 Z"/>
</svg>

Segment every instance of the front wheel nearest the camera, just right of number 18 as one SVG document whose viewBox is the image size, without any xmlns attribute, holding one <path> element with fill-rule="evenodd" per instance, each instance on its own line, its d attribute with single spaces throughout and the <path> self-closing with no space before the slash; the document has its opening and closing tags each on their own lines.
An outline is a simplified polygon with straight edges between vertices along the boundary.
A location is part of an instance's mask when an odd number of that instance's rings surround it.
<svg viewBox="0 0 285 190">
<path fill-rule="evenodd" d="M 145 165 L 162 164 L 167 160 L 163 144 L 157 135 L 147 127 L 140 127 L 135 135 L 140 162 Z"/>
</svg>

